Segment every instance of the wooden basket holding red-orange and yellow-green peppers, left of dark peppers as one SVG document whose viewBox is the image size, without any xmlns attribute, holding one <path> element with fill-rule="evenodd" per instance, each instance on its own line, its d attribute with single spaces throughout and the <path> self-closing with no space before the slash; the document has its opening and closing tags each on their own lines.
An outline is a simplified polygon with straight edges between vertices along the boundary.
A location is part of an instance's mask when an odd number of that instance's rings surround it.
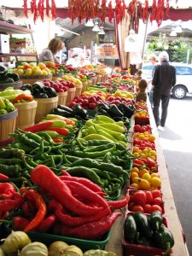
<svg viewBox="0 0 192 256">
<path fill-rule="evenodd" d="M 18 110 L 16 127 L 23 129 L 30 125 L 34 125 L 37 107 L 37 101 L 15 103 L 15 108 Z"/>
</svg>

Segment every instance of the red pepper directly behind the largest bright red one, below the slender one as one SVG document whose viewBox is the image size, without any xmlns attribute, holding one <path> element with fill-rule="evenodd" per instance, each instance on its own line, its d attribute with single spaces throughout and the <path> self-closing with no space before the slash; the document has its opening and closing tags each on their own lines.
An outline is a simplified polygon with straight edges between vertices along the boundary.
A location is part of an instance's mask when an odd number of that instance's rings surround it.
<svg viewBox="0 0 192 256">
<path fill-rule="evenodd" d="M 96 203 L 96 205 L 98 204 L 99 206 L 102 206 L 104 209 L 107 208 L 108 214 L 111 213 L 107 201 L 103 199 L 102 196 L 96 194 L 96 192 L 94 192 L 93 190 L 84 186 L 84 184 L 71 180 L 63 180 L 63 182 L 67 184 L 67 187 L 72 191 L 74 195 L 78 195 L 80 197 L 83 197 L 85 200 L 94 202 Z"/>
</svg>

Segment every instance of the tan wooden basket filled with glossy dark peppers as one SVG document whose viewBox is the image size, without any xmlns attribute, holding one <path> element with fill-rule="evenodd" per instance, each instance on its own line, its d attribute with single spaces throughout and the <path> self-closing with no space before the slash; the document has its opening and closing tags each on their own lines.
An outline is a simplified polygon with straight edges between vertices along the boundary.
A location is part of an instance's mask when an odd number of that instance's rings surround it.
<svg viewBox="0 0 192 256">
<path fill-rule="evenodd" d="M 46 116 L 53 108 L 57 107 L 58 96 L 53 98 L 36 98 L 38 102 L 38 108 L 35 115 L 35 123 L 37 124 Z"/>
</svg>

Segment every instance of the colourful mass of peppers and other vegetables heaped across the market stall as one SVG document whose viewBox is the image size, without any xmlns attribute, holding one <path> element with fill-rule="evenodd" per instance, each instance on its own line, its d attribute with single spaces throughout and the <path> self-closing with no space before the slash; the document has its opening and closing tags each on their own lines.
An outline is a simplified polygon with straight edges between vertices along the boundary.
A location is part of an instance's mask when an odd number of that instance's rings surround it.
<svg viewBox="0 0 192 256">
<path fill-rule="evenodd" d="M 45 64 L 37 67 L 52 65 Z M 9 88 L 0 92 L 0 107 L 5 109 L 6 100 L 15 108 L 33 97 L 54 97 L 86 81 L 86 75 Z M 113 73 L 105 83 L 9 134 L 0 149 L 0 229 L 7 237 L 2 253 L 114 256 L 104 248 L 121 208 L 125 252 L 137 252 L 140 245 L 143 251 L 172 253 L 146 102 L 135 101 L 137 82 L 129 76 Z M 136 123 L 130 138 L 131 119 Z"/>
</svg>

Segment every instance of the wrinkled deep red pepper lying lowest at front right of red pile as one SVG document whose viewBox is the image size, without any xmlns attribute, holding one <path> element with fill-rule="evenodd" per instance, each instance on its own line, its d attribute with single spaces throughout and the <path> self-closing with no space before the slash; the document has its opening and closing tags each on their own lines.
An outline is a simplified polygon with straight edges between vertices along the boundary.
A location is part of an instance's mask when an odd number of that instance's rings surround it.
<svg viewBox="0 0 192 256">
<path fill-rule="evenodd" d="M 99 221 L 83 224 L 76 228 L 70 228 L 65 225 L 61 226 L 62 236 L 73 236 L 79 239 L 94 240 L 103 236 L 112 227 L 115 220 L 122 215 L 121 212 L 113 212 L 113 214 L 104 216 Z"/>
</svg>

